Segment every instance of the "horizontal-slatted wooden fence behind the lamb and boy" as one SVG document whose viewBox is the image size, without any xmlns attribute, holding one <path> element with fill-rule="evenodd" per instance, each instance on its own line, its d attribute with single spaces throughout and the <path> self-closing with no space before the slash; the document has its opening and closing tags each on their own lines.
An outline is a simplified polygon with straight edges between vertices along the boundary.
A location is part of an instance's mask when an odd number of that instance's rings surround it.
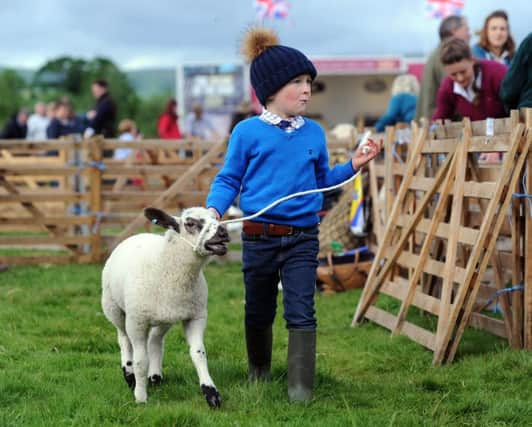
<svg viewBox="0 0 532 427">
<path fill-rule="evenodd" d="M 328 145 L 339 158 L 352 150 L 354 142 L 355 136 L 329 137 Z M 224 141 L 126 142 L 98 136 L 0 141 L 0 246 L 52 252 L 0 253 L 0 262 L 102 260 L 121 239 L 150 227 L 142 214 L 144 207 L 180 210 L 203 205 L 223 164 L 225 147 Z M 117 148 L 132 152 L 125 160 L 103 157 L 105 150 Z"/>
</svg>

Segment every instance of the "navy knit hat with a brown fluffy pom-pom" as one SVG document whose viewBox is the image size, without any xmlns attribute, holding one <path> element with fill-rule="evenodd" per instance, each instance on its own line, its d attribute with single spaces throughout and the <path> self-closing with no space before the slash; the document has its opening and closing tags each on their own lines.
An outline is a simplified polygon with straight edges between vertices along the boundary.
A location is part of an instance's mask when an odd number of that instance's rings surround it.
<svg viewBox="0 0 532 427">
<path fill-rule="evenodd" d="M 251 62 L 251 86 L 262 105 L 286 83 L 301 74 L 317 75 L 314 64 L 299 50 L 279 44 L 277 35 L 266 28 L 250 29 L 242 53 Z"/>
</svg>

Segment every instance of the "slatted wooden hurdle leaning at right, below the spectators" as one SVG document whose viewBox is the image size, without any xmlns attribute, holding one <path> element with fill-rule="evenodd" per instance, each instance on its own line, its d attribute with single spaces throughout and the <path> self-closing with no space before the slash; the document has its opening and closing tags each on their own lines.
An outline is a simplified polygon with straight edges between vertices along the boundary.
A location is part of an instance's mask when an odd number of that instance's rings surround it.
<svg viewBox="0 0 532 427">
<path fill-rule="evenodd" d="M 505 220 L 504 211 L 511 203 L 511 193 L 530 145 L 530 137 L 525 137 L 524 126 L 517 121 L 515 114 L 510 119 L 497 121 L 493 136 L 484 134 L 485 122 L 453 125 L 454 130 L 459 129 L 462 133 L 459 138 L 443 135 L 452 132 L 453 126 L 440 127 L 439 139 L 429 139 L 426 129 L 420 132 L 410 147 L 412 158 L 395 194 L 396 200 L 353 325 L 367 318 L 392 330 L 393 334 L 407 335 L 434 351 L 435 364 L 453 360 L 461 335 L 469 324 L 503 336 L 515 347 L 521 345 L 518 337 L 522 334 L 522 322 L 519 314 L 511 311 L 511 308 L 520 311 L 517 294 L 512 305 L 508 298 L 501 299 L 502 321 L 474 312 L 482 288 L 481 278 L 490 261 L 495 274 L 495 289 L 505 287 L 498 257 L 492 254 Z M 486 151 L 507 153 L 496 182 L 479 181 L 478 166 L 471 162 L 475 153 Z M 445 161 L 433 177 L 423 175 L 423 161 L 437 153 L 445 156 Z M 408 194 L 416 194 L 414 214 L 408 213 L 408 210 L 412 212 L 412 204 L 407 203 Z M 452 207 L 448 205 L 451 196 Z M 480 200 L 480 212 L 477 212 L 477 217 L 483 216 L 480 229 L 462 222 L 472 204 L 470 200 Z M 450 218 L 446 220 L 449 214 Z M 434 253 L 434 240 L 444 242 L 445 254 L 438 257 Z M 409 241 L 415 244 L 408 245 Z M 514 243 L 513 246 L 514 254 L 519 253 L 519 245 Z M 520 258 L 515 255 L 514 259 L 517 263 Z M 410 272 L 406 277 L 397 274 L 405 269 Z M 514 266 L 513 270 L 517 268 Z M 441 278 L 441 295 L 423 292 L 420 286 L 423 275 Z M 376 306 L 380 293 L 401 303 L 396 314 L 386 311 L 382 305 Z M 411 305 L 438 318 L 436 331 L 406 320 Z"/>
</svg>

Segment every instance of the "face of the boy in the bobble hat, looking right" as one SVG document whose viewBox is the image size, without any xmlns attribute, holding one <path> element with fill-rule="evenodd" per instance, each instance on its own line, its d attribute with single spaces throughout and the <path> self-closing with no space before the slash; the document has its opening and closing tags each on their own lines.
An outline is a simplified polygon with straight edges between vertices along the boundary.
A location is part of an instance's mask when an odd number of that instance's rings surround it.
<svg viewBox="0 0 532 427">
<path fill-rule="evenodd" d="M 302 74 L 285 84 L 268 102 L 267 108 L 283 118 L 299 116 L 310 101 L 312 79 Z"/>
</svg>

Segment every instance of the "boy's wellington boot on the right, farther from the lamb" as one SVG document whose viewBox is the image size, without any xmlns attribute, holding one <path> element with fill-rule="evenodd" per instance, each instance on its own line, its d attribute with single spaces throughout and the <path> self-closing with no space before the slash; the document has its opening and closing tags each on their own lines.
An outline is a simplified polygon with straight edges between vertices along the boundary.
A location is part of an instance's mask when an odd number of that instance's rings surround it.
<svg viewBox="0 0 532 427">
<path fill-rule="evenodd" d="M 312 399 L 316 367 L 316 331 L 288 331 L 288 398 L 291 402 Z"/>
</svg>

